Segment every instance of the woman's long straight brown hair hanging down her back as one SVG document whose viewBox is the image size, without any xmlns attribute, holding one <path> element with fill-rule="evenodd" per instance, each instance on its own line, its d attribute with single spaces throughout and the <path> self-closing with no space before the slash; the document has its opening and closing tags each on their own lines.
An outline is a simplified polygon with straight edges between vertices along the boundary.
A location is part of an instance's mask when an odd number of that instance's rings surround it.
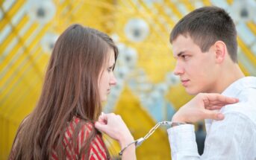
<svg viewBox="0 0 256 160">
<path fill-rule="evenodd" d="M 74 116 L 84 119 L 81 123 L 93 122 L 102 112 L 98 79 L 110 49 L 116 59 L 118 51 L 113 40 L 93 28 L 71 25 L 60 35 L 49 60 L 40 99 L 19 126 L 10 159 L 50 159 L 53 148 L 60 159 L 65 159 L 62 143 L 67 123 Z M 75 128 L 73 141 L 81 126 Z M 88 153 L 96 134 L 99 133 L 93 127 L 84 153 Z"/>
</svg>

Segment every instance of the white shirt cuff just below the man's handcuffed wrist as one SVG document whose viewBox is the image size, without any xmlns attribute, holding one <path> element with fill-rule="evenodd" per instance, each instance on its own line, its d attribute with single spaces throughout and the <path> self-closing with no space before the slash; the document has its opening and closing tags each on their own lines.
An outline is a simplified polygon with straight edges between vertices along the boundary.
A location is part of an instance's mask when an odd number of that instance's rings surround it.
<svg viewBox="0 0 256 160">
<path fill-rule="evenodd" d="M 181 124 L 167 129 L 172 156 L 177 153 L 198 154 L 195 127 L 193 124 Z"/>
</svg>

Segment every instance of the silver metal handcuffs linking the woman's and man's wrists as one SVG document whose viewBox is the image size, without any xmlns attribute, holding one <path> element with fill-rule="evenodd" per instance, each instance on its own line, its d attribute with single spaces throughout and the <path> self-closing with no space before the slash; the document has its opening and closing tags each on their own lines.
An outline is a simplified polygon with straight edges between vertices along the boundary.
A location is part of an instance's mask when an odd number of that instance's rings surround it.
<svg viewBox="0 0 256 160">
<path fill-rule="evenodd" d="M 142 144 L 143 141 L 145 141 L 147 138 L 149 138 L 149 136 L 152 135 L 154 133 L 154 131 L 158 127 L 160 127 L 161 125 L 163 125 L 163 126 L 173 126 L 173 125 L 181 125 L 181 124 L 186 124 L 186 123 L 178 123 L 178 122 L 171 122 L 171 121 L 160 121 L 160 122 L 158 122 L 154 127 L 152 127 L 152 129 L 149 130 L 149 132 L 144 137 L 139 138 L 139 139 L 131 142 L 130 144 L 127 144 L 122 150 L 120 150 L 119 156 L 122 156 L 122 153 L 125 151 L 126 148 L 131 146 L 131 144 L 135 144 L 135 147 L 139 147 L 140 144 Z"/>
</svg>

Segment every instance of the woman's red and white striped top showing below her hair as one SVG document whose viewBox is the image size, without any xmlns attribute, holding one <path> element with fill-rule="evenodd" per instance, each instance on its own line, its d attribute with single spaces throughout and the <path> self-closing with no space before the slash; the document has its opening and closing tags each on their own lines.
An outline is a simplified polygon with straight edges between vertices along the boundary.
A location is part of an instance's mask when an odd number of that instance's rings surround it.
<svg viewBox="0 0 256 160">
<path fill-rule="evenodd" d="M 66 128 L 65 136 L 63 138 L 63 146 L 66 146 L 66 159 L 78 159 L 79 153 L 81 151 L 81 147 L 87 141 L 90 132 L 93 129 L 93 124 L 86 123 L 81 127 L 81 130 L 78 133 L 78 139 L 75 144 L 75 148 L 73 146 L 73 141 L 70 141 L 72 138 L 73 132 L 75 132 L 75 127 L 81 120 L 80 118 L 73 118 L 73 121 L 69 123 L 68 127 Z M 96 138 L 90 144 L 90 160 L 97 160 L 97 159 L 107 159 L 107 151 L 102 140 L 101 135 L 96 135 Z M 53 150 L 51 153 L 51 159 L 58 160 L 56 150 Z M 85 153 L 81 155 L 81 159 L 85 159 Z"/>
</svg>

